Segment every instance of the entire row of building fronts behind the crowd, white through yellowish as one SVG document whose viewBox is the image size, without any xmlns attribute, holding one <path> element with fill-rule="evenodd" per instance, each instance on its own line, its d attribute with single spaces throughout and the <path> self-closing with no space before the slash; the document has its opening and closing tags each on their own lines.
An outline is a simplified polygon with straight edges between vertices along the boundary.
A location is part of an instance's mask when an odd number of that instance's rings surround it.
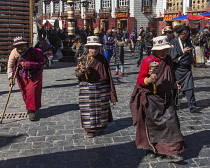
<svg viewBox="0 0 210 168">
<path fill-rule="evenodd" d="M 43 24 L 67 27 L 68 0 L 41 0 Z M 183 14 L 209 12 L 209 0 L 73 0 L 79 29 L 112 27 L 132 31 L 134 27 L 154 28 L 160 34 L 172 18 Z M 85 11 L 85 12 L 84 12 Z M 85 21 L 84 21 L 85 20 Z"/>
</svg>

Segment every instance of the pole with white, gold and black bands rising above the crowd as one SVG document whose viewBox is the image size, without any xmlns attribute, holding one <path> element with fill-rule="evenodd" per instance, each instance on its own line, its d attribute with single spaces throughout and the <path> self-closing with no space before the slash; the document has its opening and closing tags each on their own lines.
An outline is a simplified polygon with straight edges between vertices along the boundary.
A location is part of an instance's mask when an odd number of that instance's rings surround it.
<svg viewBox="0 0 210 168">
<path fill-rule="evenodd" d="M 74 0 L 67 1 L 68 35 L 75 35 Z"/>
</svg>

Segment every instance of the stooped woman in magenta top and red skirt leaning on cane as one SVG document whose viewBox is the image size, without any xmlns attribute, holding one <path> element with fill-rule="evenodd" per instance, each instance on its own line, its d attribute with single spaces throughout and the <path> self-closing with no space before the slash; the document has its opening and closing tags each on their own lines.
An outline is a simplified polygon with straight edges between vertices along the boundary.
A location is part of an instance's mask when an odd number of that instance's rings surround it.
<svg viewBox="0 0 210 168">
<path fill-rule="evenodd" d="M 41 108 L 44 54 L 40 49 L 28 47 L 28 42 L 22 36 L 14 38 L 12 47 L 14 49 L 10 53 L 7 68 L 9 85 L 14 85 L 12 82 L 16 77 L 26 104 L 27 115 L 34 121 L 36 112 Z M 17 76 L 14 76 L 14 69 L 17 67 Z"/>
</svg>

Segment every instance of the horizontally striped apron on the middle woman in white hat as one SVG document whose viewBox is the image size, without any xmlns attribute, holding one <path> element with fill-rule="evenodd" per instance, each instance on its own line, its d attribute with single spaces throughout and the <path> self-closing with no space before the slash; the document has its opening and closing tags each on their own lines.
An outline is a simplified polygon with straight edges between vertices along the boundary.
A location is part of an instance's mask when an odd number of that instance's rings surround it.
<svg viewBox="0 0 210 168">
<path fill-rule="evenodd" d="M 79 87 L 82 127 L 91 129 L 107 126 L 110 110 L 110 84 L 80 82 Z"/>
</svg>

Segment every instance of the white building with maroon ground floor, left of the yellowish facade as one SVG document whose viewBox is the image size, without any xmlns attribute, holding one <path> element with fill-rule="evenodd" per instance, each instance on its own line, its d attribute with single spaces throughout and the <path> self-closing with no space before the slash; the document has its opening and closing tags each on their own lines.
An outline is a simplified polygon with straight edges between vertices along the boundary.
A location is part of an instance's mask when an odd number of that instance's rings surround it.
<svg viewBox="0 0 210 168">
<path fill-rule="evenodd" d="M 155 22 L 154 17 L 163 13 L 163 2 L 159 1 L 164 0 L 74 0 L 76 26 L 80 29 L 84 27 L 86 15 L 87 25 L 91 29 L 115 27 L 132 30 L 134 27 L 148 27 L 148 22 Z M 84 2 L 88 3 L 87 10 L 84 10 Z M 54 25 L 58 20 L 60 28 L 63 28 L 68 1 L 43 0 L 42 4 L 43 24 L 48 21 Z"/>
</svg>

